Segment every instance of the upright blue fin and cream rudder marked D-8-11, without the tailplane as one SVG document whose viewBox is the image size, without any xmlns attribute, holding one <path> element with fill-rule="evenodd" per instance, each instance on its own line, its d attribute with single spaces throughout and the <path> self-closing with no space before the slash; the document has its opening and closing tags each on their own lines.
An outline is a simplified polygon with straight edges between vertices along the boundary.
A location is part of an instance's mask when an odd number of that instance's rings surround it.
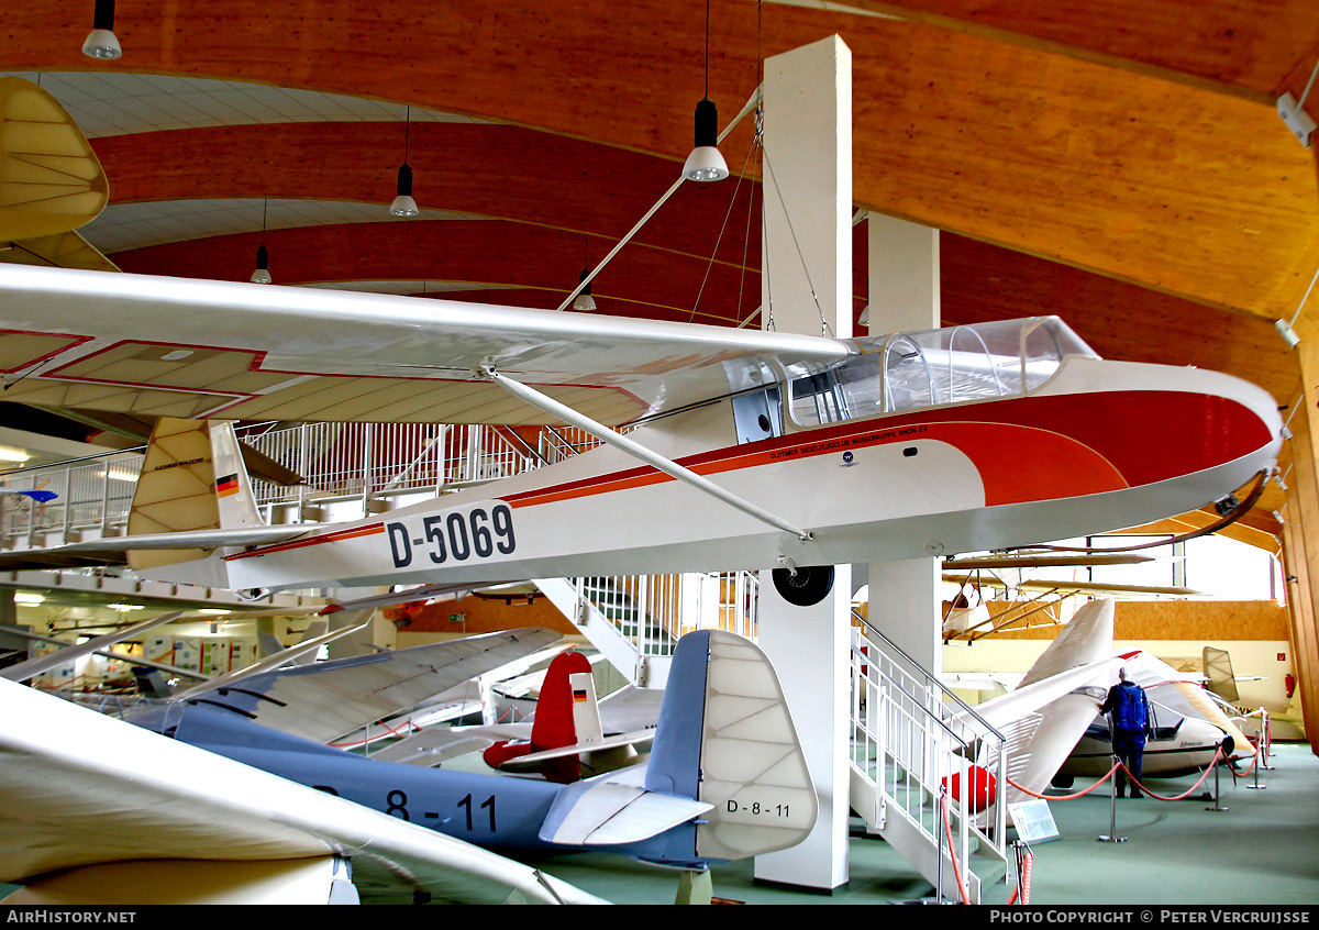
<svg viewBox="0 0 1319 930">
<path fill-rule="evenodd" d="M 819 802 L 757 645 L 720 631 L 678 642 L 645 788 L 714 805 L 694 826 L 696 860 L 783 850 L 811 831 Z"/>
</svg>

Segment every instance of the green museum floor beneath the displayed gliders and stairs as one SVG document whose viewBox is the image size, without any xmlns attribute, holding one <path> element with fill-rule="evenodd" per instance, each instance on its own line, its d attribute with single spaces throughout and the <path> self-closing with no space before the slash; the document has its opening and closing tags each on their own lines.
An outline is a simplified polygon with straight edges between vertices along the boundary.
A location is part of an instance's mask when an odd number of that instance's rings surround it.
<svg viewBox="0 0 1319 930">
<path fill-rule="evenodd" d="M 1219 806 L 1194 799 L 1119 801 L 1109 835 L 1108 786 L 1076 801 L 1050 802 L 1062 838 L 1033 848 L 1030 902 L 1099 904 L 1319 904 L 1319 759 L 1308 745 L 1274 747 L 1262 790 L 1224 774 Z M 1078 782 L 1080 790 L 1089 782 Z M 1163 795 L 1181 794 L 1195 778 L 1150 782 Z M 1212 790 L 1213 780 L 1206 782 Z M 551 875 L 616 904 L 671 904 L 673 872 L 620 861 L 604 853 L 567 855 L 537 863 Z M 714 871 L 714 893 L 747 904 L 888 904 L 919 900 L 933 886 L 882 840 L 851 840 L 849 881 L 832 894 L 757 885 L 749 863 Z M 988 885 L 984 904 L 1004 904 L 1009 889 Z"/>
</svg>

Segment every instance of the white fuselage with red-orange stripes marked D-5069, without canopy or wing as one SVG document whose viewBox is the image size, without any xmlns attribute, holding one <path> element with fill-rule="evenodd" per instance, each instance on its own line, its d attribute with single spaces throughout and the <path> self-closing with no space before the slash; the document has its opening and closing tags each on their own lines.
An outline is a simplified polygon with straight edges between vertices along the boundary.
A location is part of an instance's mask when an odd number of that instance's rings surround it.
<svg viewBox="0 0 1319 930">
<path fill-rule="evenodd" d="M 1099 533 L 1216 501 L 1273 466 L 1262 390 L 1212 372 L 1067 357 L 1018 396 L 736 442 L 732 402 L 637 442 L 809 530 L 802 540 L 625 452 L 570 460 L 224 557 L 230 587 L 491 583 L 940 555 Z"/>
</svg>

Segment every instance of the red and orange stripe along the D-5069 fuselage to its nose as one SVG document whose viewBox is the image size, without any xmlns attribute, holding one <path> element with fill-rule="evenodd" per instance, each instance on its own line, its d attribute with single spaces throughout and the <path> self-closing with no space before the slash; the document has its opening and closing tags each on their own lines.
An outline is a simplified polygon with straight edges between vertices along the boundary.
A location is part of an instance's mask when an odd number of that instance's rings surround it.
<svg viewBox="0 0 1319 930">
<path fill-rule="evenodd" d="M 867 446 L 936 441 L 971 459 L 984 484 L 985 505 L 993 507 L 1151 484 L 1231 462 L 1269 439 L 1264 422 L 1236 401 L 1175 390 L 1115 390 L 894 413 L 699 452 L 678 463 L 708 476 Z M 500 500 L 536 507 L 671 480 L 638 466 Z M 227 558 L 383 532 L 384 524 L 377 522 Z"/>
</svg>

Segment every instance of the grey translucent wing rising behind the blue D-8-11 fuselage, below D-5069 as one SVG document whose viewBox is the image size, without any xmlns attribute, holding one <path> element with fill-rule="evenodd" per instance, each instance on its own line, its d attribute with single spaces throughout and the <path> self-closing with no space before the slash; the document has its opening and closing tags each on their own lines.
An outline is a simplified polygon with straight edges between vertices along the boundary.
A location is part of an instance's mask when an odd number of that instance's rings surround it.
<svg viewBox="0 0 1319 930">
<path fill-rule="evenodd" d="M 272 729 L 328 743 L 559 638 L 549 629 L 488 633 L 268 671 L 190 698 L 232 707 Z"/>
</svg>

